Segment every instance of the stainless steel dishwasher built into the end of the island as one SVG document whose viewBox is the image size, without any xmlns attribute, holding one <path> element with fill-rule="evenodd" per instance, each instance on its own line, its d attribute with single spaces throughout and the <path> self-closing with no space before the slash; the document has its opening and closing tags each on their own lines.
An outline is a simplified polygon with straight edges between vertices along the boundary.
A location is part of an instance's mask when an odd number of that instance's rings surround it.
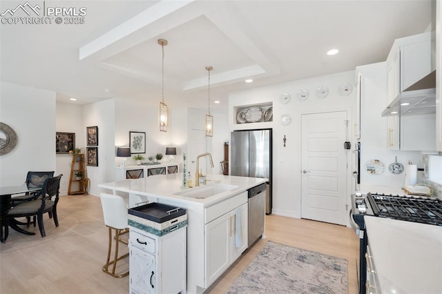
<svg viewBox="0 0 442 294">
<path fill-rule="evenodd" d="M 264 233 L 265 194 L 267 184 L 249 189 L 249 247 Z"/>
</svg>

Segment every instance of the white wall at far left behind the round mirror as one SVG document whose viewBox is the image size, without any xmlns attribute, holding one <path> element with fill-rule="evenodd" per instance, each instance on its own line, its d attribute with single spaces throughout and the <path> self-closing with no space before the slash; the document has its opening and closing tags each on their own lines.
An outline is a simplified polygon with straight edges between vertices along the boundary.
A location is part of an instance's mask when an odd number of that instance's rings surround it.
<svg viewBox="0 0 442 294">
<path fill-rule="evenodd" d="M 0 121 L 17 134 L 17 146 L 0 156 L 0 186 L 25 182 L 29 170 L 54 170 L 55 92 L 1 82 Z"/>
</svg>

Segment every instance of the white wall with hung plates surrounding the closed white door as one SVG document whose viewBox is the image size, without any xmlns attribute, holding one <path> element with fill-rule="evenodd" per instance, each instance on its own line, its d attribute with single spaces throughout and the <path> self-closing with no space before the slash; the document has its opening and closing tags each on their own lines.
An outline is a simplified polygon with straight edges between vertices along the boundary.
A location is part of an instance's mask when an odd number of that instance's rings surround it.
<svg viewBox="0 0 442 294">
<path fill-rule="evenodd" d="M 356 85 L 355 72 L 341 72 L 334 75 L 290 81 L 283 84 L 276 84 L 260 88 L 253 88 L 241 92 L 234 92 L 229 95 L 229 124 L 231 130 L 236 126 L 232 125 L 236 114 L 233 113 L 234 106 L 253 105 L 256 103 L 273 103 L 273 122 L 264 123 L 265 128 L 273 128 L 273 213 L 290 217 L 300 217 L 301 206 L 301 166 L 300 166 L 300 121 L 301 115 L 305 113 L 329 112 L 334 110 L 347 110 L 349 117 L 354 117 L 356 107 Z M 354 89 L 348 96 L 338 94 L 338 86 L 343 83 L 352 84 Z M 329 95 L 325 99 L 317 99 L 316 88 L 327 86 Z M 299 101 L 297 93 L 299 90 L 308 90 L 309 98 L 306 101 Z M 280 96 L 287 92 L 291 95 L 288 104 L 282 104 Z M 282 126 L 280 117 L 283 114 L 291 115 L 291 124 Z M 245 124 L 244 124 L 245 125 Z M 239 127 L 247 128 L 241 125 Z M 353 125 L 353 118 L 349 126 Z M 253 124 L 259 128 L 259 124 Z M 351 130 L 351 128 L 349 128 Z M 283 147 L 282 138 L 287 138 L 286 147 Z M 354 141 L 352 141 L 354 146 Z M 349 150 L 349 153 L 351 150 Z M 350 162 L 351 163 L 351 162 Z M 351 175 L 352 170 L 349 170 Z M 351 176 L 348 178 L 350 179 Z M 351 183 L 349 183 L 351 184 Z M 350 188 L 349 188 L 350 190 Z M 350 193 L 350 191 L 349 191 Z M 349 198 L 349 195 L 348 195 Z"/>
</svg>

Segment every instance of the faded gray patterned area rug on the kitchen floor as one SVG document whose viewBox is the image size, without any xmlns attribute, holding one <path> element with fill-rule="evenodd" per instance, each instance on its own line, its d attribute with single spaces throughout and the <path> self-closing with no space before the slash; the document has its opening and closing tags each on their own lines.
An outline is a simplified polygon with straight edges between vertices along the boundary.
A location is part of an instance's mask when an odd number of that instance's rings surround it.
<svg viewBox="0 0 442 294">
<path fill-rule="evenodd" d="M 347 260 L 269 241 L 227 293 L 347 293 Z"/>
</svg>

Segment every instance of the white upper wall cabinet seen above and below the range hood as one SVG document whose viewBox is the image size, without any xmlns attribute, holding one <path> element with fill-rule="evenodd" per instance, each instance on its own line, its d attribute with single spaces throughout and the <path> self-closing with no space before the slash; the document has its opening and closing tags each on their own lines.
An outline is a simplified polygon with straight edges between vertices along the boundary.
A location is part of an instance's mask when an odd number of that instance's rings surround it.
<svg viewBox="0 0 442 294">
<path fill-rule="evenodd" d="M 430 74 L 430 38 L 428 32 L 394 41 L 387 58 L 387 105 L 400 92 Z M 410 142 L 412 144 L 408 144 Z M 389 116 L 387 147 L 393 150 L 434 150 L 434 116 L 424 119 L 412 118 L 411 115 Z"/>
</svg>

